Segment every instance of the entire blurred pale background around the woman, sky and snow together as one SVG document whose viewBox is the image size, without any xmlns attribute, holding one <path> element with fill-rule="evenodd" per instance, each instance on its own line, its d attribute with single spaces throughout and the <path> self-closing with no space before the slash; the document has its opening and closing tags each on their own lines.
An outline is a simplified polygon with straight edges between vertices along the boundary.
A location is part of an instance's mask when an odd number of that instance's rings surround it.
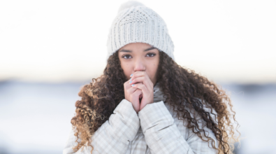
<svg viewBox="0 0 276 154">
<path fill-rule="evenodd" d="M 123 2 L 0 1 L 0 154 L 62 153 Z M 276 1 L 140 2 L 164 18 L 177 64 L 231 96 L 235 153 L 276 153 Z"/>
</svg>

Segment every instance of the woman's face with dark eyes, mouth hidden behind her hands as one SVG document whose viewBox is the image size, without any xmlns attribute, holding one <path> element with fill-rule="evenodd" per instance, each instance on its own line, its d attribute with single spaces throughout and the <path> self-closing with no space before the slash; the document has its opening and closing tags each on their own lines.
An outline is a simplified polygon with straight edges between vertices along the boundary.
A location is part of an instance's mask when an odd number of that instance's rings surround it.
<svg viewBox="0 0 276 154">
<path fill-rule="evenodd" d="M 131 73 L 145 71 L 155 85 L 159 64 L 159 50 L 147 43 L 129 43 L 119 49 L 119 61 L 129 80 Z"/>
</svg>

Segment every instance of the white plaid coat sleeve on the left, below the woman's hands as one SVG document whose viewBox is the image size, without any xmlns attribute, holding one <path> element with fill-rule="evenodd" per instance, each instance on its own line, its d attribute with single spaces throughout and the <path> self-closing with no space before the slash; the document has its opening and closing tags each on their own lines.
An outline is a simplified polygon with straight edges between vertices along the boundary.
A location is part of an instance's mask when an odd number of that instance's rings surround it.
<svg viewBox="0 0 276 154">
<path fill-rule="evenodd" d="M 106 123 L 92 136 L 92 153 L 126 153 L 129 143 L 136 136 L 140 120 L 131 102 L 123 99 Z M 73 154 L 73 146 L 78 145 L 74 130 L 71 130 L 63 154 Z M 82 150 L 83 148 L 83 150 Z M 91 146 L 82 146 L 75 154 L 90 154 Z"/>
</svg>

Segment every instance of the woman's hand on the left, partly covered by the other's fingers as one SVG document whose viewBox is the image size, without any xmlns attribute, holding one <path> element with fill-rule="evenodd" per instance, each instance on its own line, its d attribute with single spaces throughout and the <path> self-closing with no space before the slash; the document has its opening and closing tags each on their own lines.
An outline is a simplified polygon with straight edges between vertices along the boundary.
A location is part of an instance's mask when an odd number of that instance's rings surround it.
<svg viewBox="0 0 276 154">
<path fill-rule="evenodd" d="M 133 109 L 138 113 L 140 111 L 140 101 L 139 99 L 143 96 L 142 90 L 131 87 L 131 84 L 129 84 L 130 80 L 127 80 L 124 83 L 124 97 L 126 100 L 131 102 Z M 140 83 L 142 84 L 142 83 Z"/>
</svg>

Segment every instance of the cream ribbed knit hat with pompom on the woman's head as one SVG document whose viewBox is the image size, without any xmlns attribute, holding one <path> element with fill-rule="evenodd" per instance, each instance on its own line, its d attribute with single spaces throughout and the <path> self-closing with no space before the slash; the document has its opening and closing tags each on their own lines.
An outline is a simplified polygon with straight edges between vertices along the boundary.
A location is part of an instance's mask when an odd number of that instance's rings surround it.
<svg viewBox="0 0 276 154">
<path fill-rule="evenodd" d="M 136 42 L 148 43 L 175 60 L 173 41 L 161 16 L 143 3 L 127 1 L 119 7 L 110 27 L 108 57 L 124 45 Z"/>
</svg>

